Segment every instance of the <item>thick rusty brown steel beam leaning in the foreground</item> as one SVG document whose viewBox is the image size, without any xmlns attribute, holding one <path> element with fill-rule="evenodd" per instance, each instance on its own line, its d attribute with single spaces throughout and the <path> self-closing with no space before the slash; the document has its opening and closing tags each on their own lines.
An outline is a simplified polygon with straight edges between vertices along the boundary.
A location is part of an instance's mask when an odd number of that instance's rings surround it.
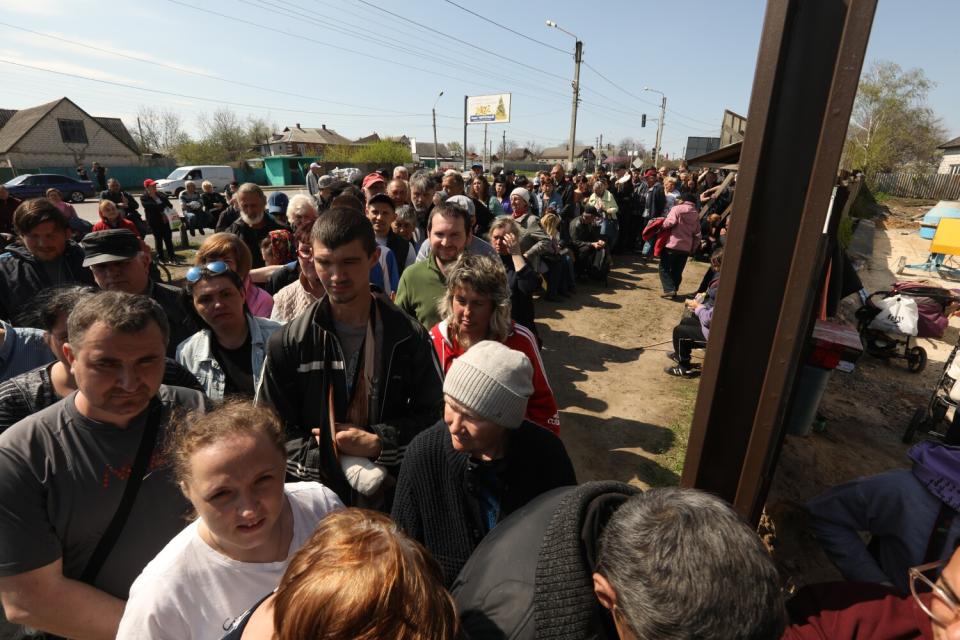
<svg viewBox="0 0 960 640">
<path fill-rule="evenodd" d="M 681 484 L 754 521 L 821 283 L 825 218 L 877 0 L 768 0 Z"/>
</svg>

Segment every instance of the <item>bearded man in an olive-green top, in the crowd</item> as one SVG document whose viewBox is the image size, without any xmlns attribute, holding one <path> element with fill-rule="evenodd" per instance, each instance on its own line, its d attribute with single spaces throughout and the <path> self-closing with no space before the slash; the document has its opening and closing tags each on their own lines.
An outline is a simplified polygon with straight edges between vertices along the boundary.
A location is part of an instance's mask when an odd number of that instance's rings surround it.
<svg viewBox="0 0 960 640">
<path fill-rule="evenodd" d="M 397 306 L 426 328 L 440 322 L 437 301 L 447 292 L 447 269 L 470 245 L 470 214 L 457 205 L 433 208 L 427 220 L 427 259 L 404 270 L 397 289 Z"/>
</svg>

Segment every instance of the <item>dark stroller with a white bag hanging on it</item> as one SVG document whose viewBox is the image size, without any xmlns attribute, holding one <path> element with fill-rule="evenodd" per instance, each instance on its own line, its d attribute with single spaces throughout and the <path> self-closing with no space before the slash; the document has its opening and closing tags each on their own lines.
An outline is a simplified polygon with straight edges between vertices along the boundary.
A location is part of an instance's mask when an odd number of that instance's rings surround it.
<svg viewBox="0 0 960 640">
<path fill-rule="evenodd" d="M 906 296 L 916 302 L 915 334 L 891 330 L 877 322 L 877 316 L 884 310 L 880 301 L 895 296 Z M 872 293 L 856 312 L 857 331 L 863 350 L 883 360 L 906 360 L 908 371 L 920 373 L 927 366 L 927 351 L 913 343 L 914 335 L 919 338 L 942 337 L 952 311 L 948 309 L 957 303 L 960 303 L 957 290 L 944 289 L 927 282 L 898 282 L 889 290 Z"/>
</svg>

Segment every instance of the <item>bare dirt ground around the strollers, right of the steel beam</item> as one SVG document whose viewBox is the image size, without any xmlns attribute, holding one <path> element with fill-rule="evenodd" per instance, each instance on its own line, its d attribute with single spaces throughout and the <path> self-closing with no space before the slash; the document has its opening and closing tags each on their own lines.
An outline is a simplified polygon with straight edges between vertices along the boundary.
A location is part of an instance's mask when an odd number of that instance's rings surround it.
<svg viewBox="0 0 960 640">
<path fill-rule="evenodd" d="M 895 281 L 928 280 L 939 286 L 956 282 L 931 278 L 920 271 L 895 275 L 901 256 L 908 264 L 926 260 L 930 241 L 917 234 L 922 216 L 934 202 L 888 200 L 890 215 L 878 221 L 872 258 L 860 270 L 870 292 Z M 844 301 L 841 315 L 850 318 L 859 306 L 856 296 Z M 834 372 L 820 413 L 826 429 L 806 437 L 787 436 L 767 500 L 767 514 L 776 529 L 774 555 L 788 583 L 802 586 L 840 579 L 839 573 L 810 535 L 802 504 L 836 484 L 898 467 L 908 467 L 909 445 L 901 436 L 918 407 L 927 404 L 957 343 L 956 318 L 941 340 L 921 338 L 928 354 L 926 369 L 907 371 L 904 361 L 884 362 L 864 355 L 852 373 Z"/>
</svg>

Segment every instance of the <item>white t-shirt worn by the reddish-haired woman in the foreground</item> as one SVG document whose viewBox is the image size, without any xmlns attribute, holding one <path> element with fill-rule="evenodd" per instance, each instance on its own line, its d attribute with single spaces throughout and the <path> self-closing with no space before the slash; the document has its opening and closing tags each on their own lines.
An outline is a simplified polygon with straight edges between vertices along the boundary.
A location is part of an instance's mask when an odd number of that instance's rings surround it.
<svg viewBox="0 0 960 640">
<path fill-rule="evenodd" d="M 200 538 L 199 520 L 171 540 L 130 587 L 117 638 L 217 640 L 234 619 L 277 588 L 294 553 L 328 512 L 343 508 L 317 482 L 284 487 L 293 509 L 293 539 L 281 562 L 239 562 Z"/>
</svg>

